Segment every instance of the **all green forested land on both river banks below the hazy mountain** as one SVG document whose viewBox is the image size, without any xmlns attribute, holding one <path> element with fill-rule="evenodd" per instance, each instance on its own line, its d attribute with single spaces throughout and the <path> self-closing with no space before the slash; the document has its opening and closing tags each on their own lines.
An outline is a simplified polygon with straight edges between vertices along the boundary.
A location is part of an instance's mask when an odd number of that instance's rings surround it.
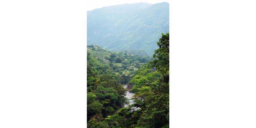
<svg viewBox="0 0 256 128">
<path fill-rule="evenodd" d="M 88 128 L 169 127 L 169 33 L 156 44 L 153 58 L 87 47 Z"/>
</svg>

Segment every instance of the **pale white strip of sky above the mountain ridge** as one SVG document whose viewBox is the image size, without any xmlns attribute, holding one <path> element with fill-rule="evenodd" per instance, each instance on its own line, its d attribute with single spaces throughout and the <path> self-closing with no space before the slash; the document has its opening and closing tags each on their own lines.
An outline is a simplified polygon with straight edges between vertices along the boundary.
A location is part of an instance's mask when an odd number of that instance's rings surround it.
<svg viewBox="0 0 256 128">
<path fill-rule="evenodd" d="M 118 5 L 118 4 L 132 4 L 132 3 L 140 3 L 140 2 L 147 2 L 151 4 L 161 3 L 161 2 L 168 2 L 169 0 L 88 0 L 87 1 L 87 11 L 102 8 L 111 5 Z"/>
</svg>

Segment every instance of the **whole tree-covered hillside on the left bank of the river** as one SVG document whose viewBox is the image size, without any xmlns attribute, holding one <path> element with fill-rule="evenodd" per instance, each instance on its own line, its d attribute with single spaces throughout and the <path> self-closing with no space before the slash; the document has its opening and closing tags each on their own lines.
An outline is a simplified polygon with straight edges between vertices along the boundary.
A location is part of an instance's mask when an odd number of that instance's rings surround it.
<svg viewBox="0 0 256 128">
<path fill-rule="evenodd" d="M 107 117 L 122 108 L 124 86 L 140 65 L 152 58 L 124 52 L 110 52 L 102 47 L 87 47 L 87 121 L 95 116 Z"/>
</svg>

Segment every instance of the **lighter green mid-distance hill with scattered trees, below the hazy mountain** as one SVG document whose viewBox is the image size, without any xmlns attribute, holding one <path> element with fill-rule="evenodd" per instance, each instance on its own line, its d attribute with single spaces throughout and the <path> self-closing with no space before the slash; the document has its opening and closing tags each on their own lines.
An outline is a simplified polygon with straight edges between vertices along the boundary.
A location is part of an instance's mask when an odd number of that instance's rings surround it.
<svg viewBox="0 0 256 128">
<path fill-rule="evenodd" d="M 148 63 L 148 61 L 153 59 L 147 55 L 143 56 L 143 53 L 143 51 L 110 52 L 97 45 L 87 46 L 87 59 L 92 60 L 94 63 L 92 67 L 106 69 L 105 73 L 116 75 L 132 75 L 134 71 L 138 70 L 140 65 Z M 90 61 L 88 62 L 91 63 Z M 98 71 L 95 70 L 94 72 Z"/>
</svg>

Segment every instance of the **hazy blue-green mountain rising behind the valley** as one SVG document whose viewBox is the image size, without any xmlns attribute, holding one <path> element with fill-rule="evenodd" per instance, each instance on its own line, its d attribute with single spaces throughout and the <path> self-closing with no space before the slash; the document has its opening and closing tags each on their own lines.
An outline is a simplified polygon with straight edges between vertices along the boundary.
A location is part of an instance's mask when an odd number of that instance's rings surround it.
<svg viewBox="0 0 256 128">
<path fill-rule="evenodd" d="M 87 12 L 87 44 L 110 51 L 158 48 L 161 33 L 169 32 L 169 3 L 136 3 L 103 7 Z"/>
</svg>

